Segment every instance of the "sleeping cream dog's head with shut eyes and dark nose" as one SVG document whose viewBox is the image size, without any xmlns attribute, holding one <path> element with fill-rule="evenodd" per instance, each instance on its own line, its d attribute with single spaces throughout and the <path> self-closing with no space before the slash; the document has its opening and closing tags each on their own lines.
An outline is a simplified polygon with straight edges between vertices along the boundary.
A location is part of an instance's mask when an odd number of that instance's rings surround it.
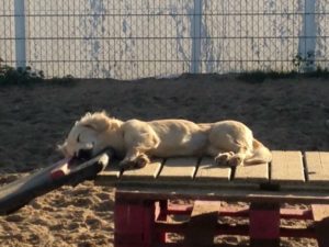
<svg viewBox="0 0 329 247">
<path fill-rule="evenodd" d="M 104 112 L 87 113 L 76 122 L 58 149 L 67 158 L 89 159 L 110 145 L 109 132 L 118 124 L 120 121 L 110 119 Z"/>
</svg>

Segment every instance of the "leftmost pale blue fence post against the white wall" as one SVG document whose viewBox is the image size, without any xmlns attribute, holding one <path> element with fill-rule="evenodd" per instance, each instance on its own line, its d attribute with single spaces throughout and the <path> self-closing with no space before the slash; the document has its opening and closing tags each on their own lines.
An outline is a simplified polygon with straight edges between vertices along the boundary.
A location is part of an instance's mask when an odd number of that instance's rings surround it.
<svg viewBox="0 0 329 247">
<path fill-rule="evenodd" d="M 16 67 L 26 67 L 25 0 L 14 0 Z"/>
</svg>

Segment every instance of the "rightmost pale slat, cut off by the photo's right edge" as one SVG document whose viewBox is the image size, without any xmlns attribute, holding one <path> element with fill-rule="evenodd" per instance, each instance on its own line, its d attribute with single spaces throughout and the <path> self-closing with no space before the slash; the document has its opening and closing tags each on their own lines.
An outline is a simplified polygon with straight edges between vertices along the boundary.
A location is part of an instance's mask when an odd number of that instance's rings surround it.
<svg viewBox="0 0 329 247">
<path fill-rule="evenodd" d="M 308 182 L 329 184 L 329 153 L 306 151 Z"/>
</svg>

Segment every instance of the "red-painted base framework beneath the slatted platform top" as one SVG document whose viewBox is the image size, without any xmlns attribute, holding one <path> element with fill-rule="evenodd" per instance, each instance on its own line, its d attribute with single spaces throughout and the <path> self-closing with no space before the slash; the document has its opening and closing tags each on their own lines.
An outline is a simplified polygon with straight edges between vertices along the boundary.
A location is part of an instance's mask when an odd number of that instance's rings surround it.
<svg viewBox="0 0 329 247">
<path fill-rule="evenodd" d="M 156 203 L 152 199 L 134 198 L 125 193 L 115 193 L 114 222 L 115 222 L 115 247 L 154 247 L 166 245 L 168 233 L 179 233 L 186 237 L 191 233 L 191 222 L 169 223 L 168 214 L 191 214 L 195 209 L 191 205 L 168 204 L 167 200 Z M 247 207 L 218 207 L 219 216 L 246 217 L 249 215 L 248 225 L 215 224 L 214 235 L 249 235 L 250 246 L 253 247 L 279 247 L 280 236 L 282 237 L 307 237 L 317 238 L 319 247 L 328 247 L 329 238 L 329 207 L 328 205 L 313 205 L 310 210 L 282 209 L 275 203 L 252 203 Z M 216 216 L 216 210 L 212 211 Z M 193 216 L 193 215 L 192 215 Z M 206 215 L 197 215 L 205 218 Z M 200 229 L 206 225 L 195 221 L 194 228 Z M 285 228 L 280 227 L 280 218 L 314 220 L 315 225 L 307 228 Z M 156 222 L 157 220 L 157 222 Z M 209 222 L 205 220 L 205 222 Z M 214 221 L 215 222 L 215 221 Z M 198 226 L 201 225 L 201 226 Z M 190 228 L 189 228 L 190 227 Z M 198 228 L 201 227 L 201 228 Z M 207 226 L 208 227 L 208 226 Z M 207 233 L 206 233 L 207 234 Z M 207 236 L 201 234 L 200 239 Z M 189 234 L 188 234 L 189 235 Z M 194 233 L 190 234 L 190 239 Z M 192 236 L 192 237 L 191 237 Z M 196 236 L 196 234 L 195 234 Z M 197 237 L 196 237 L 197 238 Z M 209 238 L 209 237 L 208 237 Z M 194 240 L 193 240 L 194 242 Z M 186 244 L 186 243 L 185 243 Z M 190 243 L 191 244 L 191 243 Z"/>
</svg>

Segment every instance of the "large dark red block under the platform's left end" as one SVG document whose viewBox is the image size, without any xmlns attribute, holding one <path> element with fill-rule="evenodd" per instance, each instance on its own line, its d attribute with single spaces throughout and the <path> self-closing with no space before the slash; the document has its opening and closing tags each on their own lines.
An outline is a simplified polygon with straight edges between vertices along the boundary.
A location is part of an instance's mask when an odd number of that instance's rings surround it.
<svg viewBox="0 0 329 247">
<path fill-rule="evenodd" d="M 117 198 L 114 205 L 114 246 L 152 247 L 155 240 L 155 202 Z"/>
</svg>

